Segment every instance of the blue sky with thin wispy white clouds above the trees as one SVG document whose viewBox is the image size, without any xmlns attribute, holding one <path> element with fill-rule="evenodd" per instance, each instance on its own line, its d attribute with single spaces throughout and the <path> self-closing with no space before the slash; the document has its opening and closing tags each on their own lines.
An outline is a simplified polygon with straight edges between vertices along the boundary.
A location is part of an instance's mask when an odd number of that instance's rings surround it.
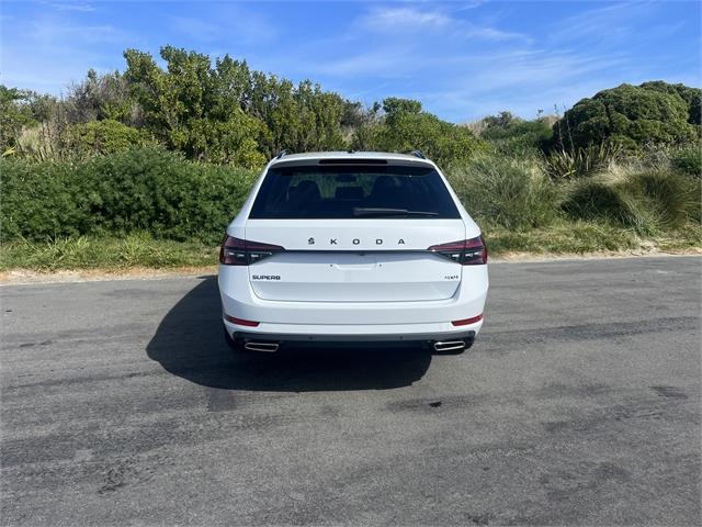
<svg viewBox="0 0 702 527">
<path fill-rule="evenodd" d="M 532 117 L 622 82 L 700 86 L 699 1 L 3 1 L 0 82 L 59 94 L 123 49 L 229 54 L 371 103 Z"/>
</svg>

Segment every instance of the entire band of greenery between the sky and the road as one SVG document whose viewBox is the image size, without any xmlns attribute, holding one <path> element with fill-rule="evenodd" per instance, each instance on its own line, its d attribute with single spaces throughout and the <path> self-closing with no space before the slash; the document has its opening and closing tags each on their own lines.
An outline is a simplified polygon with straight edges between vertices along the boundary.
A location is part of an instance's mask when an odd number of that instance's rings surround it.
<svg viewBox="0 0 702 527">
<path fill-rule="evenodd" d="M 421 149 L 492 254 L 702 245 L 702 91 L 623 85 L 563 116 L 455 125 L 171 46 L 64 99 L 0 86 L 0 269 L 212 262 L 259 169 L 294 152 Z"/>
</svg>

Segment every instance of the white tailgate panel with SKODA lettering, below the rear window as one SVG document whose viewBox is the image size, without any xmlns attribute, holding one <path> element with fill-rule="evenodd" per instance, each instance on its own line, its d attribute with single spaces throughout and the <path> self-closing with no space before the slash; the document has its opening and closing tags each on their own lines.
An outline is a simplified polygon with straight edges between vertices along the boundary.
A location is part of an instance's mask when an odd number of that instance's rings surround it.
<svg viewBox="0 0 702 527">
<path fill-rule="evenodd" d="M 426 250 L 464 239 L 462 220 L 249 220 L 246 237 L 286 249 L 249 266 L 264 300 L 443 300 L 462 278 L 461 265 Z"/>
</svg>

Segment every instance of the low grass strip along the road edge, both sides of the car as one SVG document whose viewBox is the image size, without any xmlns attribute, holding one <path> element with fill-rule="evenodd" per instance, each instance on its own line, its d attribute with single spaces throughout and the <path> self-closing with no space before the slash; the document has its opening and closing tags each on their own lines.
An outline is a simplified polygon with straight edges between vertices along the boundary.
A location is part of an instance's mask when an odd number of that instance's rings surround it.
<svg viewBox="0 0 702 527">
<path fill-rule="evenodd" d="M 557 222 L 547 228 L 516 232 L 485 227 L 491 258 L 550 255 L 611 255 L 700 251 L 702 227 L 688 224 L 675 232 L 641 236 L 634 229 L 593 222 Z M 24 239 L 0 246 L 0 271 L 131 269 L 178 270 L 217 264 L 218 247 L 201 242 L 154 239 L 147 233 L 122 238 L 78 236 L 47 242 Z"/>
</svg>

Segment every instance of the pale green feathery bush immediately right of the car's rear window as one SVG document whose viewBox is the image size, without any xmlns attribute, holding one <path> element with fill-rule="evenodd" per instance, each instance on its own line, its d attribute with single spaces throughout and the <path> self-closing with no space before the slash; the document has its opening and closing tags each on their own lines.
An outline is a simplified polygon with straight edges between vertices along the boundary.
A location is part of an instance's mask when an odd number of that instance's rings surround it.
<svg viewBox="0 0 702 527">
<path fill-rule="evenodd" d="M 450 179 L 471 214 L 489 223 L 541 227 L 558 213 L 558 189 L 529 160 L 482 154 L 456 167 Z"/>
</svg>

